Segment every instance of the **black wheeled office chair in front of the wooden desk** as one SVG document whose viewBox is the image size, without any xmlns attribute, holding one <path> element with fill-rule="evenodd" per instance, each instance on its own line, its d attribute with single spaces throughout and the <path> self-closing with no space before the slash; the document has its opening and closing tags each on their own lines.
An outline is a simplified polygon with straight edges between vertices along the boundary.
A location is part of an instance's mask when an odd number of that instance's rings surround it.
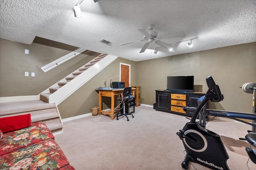
<svg viewBox="0 0 256 170">
<path fill-rule="evenodd" d="M 120 97 L 120 95 L 122 97 Z M 129 121 L 129 118 L 127 115 L 132 115 L 134 113 L 134 99 L 132 96 L 132 88 L 126 87 L 124 88 L 123 93 L 119 93 L 119 98 L 116 100 L 120 101 L 119 105 L 116 107 L 115 110 L 120 110 L 120 113 L 116 114 L 116 120 L 118 120 L 118 117 L 125 116 L 127 118 L 127 121 Z M 130 108 L 133 108 L 133 111 L 130 111 Z M 132 115 L 132 118 L 134 116 Z"/>
</svg>

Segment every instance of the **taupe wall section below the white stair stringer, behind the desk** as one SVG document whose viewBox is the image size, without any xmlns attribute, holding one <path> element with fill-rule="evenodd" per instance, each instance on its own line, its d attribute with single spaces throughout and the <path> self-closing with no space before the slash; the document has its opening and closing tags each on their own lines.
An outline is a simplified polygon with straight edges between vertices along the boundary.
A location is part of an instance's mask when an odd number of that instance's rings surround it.
<svg viewBox="0 0 256 170">
<path fill-rule="evenodd" d="M 95 75 L 92 79 L 90 79 L 90 81 L 88 81 L 85 85 L 83 85 L 70 97 L 58 105 L 62 119 L 83 115 L 85 113 L 91 113 L 92 107 L 98 107 L 98 92 L 95 91 L 95 89 L 98 87 L 109 86 L 110 77 L 114 77 L 120 73 L 120 63 L 131 65 L 130 79 L 131 86 L 134 86 L 136 80 L 136 62 L 118 57 L 115 61 L 100 71 L 100 73 Z M 112 81 L 119 81 L 119 79 L 120 77 L 115 77 L 112 79 Z M 109 97 L 103 97 L 102 101 L 104 101 L 103 109 L 110 108 Z"/>
</svg>

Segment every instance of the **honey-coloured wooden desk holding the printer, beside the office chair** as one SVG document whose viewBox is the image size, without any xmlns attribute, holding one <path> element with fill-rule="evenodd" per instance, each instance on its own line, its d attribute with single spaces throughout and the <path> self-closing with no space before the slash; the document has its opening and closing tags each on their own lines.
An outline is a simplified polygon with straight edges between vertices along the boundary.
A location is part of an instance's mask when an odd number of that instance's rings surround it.
<svg viewBox="0 0 256 170">
<path fill-rule="evenodd" d="M 124 89 L 96 89 L 99 92 L 99 115 L 101 113 L 107 114 L 111 116 L 111 120 L 114 119 L 114 105 L 115 105 L 115 95 L 119 95 L 118 93 L 123 93 Z M 132 88 L 132 95 L 134 97 L 134 90 Z M 102 110 L 102 96 L 111 98 L 111 108 L 109 111 Z"/>
</svg>

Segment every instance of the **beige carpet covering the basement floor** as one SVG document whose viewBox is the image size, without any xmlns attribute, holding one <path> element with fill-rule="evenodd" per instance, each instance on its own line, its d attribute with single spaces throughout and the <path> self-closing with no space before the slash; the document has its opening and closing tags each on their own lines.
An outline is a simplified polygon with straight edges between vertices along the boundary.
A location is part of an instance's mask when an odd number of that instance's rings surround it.
<svg viewBox="0 0 256 170">
<path fill-rule="evenodd" d="M 188 121 L 182 115 L 138 106 L 130 121 L 97 115 L 64 122 L 64 133 L 55 140 L 76 170 L 182 170 L 184 146 L 176 132 Z M 247 170 L 245 147 L 250 145 L 238 138 L 251 127 L 218 118 L 206 128 L 221 136 L 230 156 L 229 168 Z M 256 170 L 251 160 L 248 166 Z M 208 168 L 192 163 L 188 169 Z"/>
</svg>

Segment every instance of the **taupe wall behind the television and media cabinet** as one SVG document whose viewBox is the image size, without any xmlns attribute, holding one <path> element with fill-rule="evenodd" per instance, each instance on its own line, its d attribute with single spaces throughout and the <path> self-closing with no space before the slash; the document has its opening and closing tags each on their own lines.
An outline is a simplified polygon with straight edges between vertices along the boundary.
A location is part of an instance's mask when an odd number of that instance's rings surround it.
<svg viewBox="0 0 256 170">
<path fill-rule="evenodd" d="M 252 113 L 252 94 L 240 87 L 256 83 L 256 43 L 136 62 L 136 86 L 141 86 L 141 103 L 153 105 L 155 90 L 167 88 L 167 76 L 194 75 L 196 91 L 207 91 L 205 78 L 211 75 L 224 94 L 212 109 Z M 201 86 L 201 87 L 200 87 Z M 198 88 L 200 87 L 200 88 Z"/>
</svg>

